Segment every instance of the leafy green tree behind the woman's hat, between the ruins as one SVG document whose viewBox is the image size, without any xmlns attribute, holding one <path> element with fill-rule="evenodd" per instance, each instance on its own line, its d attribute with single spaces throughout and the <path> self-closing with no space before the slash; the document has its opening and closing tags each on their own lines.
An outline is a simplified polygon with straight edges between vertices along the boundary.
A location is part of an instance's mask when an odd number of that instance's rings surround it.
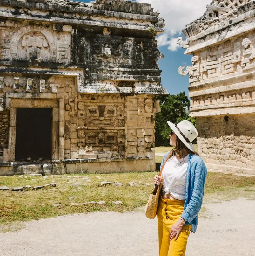
<svg viewBox="0 0 255 256">
<path fill-rule="evenodd" d="M 170 127 L 167 121 L 179 123 L 187 119 L 196 125 L 195 118 L 189 117 L 190 101 L 185 92 L 177 95 L 166 95 L 158 98 L 161 112 L 156 114 L 155 147 L 169 146 Z"/>
</svg>

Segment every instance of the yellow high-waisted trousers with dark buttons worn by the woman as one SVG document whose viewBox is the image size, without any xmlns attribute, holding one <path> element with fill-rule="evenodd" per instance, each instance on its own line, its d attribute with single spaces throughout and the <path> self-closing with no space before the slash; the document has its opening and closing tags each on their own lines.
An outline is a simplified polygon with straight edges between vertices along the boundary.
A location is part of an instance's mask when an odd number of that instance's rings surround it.
<svg viewBox="0 0 255 256">
<path fill-rule="evenodd" d="M 180 218 L 184 211 L 184 200 L 163 199 L 158 200 L 158 243 L 159 256 L 184 256 L 190 234 L 191 225 L 184 225 L 175 241 L 169 241 L 169 232 L 172 225 Z"/>
</svg>

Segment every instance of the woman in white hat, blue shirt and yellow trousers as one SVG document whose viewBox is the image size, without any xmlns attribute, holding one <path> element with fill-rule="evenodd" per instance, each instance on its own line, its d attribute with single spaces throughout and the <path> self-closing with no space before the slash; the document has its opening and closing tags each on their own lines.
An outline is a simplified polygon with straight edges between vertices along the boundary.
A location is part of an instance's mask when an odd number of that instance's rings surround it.
<svg viewBox="0 0 255 256">
<path fill-rule="evenodd" d="M 171 128 L 170 145 L 162 160 L 162 175 L 154 177 L 154 184 L 162 184 L 158 201 L 159 256 L 185 255 L 190 231 L 198 225 L 207 169 L 191 142 L 198 136 L 191 122 L 183 120 L 178 125 L 167 122 Z"/>
</svg>

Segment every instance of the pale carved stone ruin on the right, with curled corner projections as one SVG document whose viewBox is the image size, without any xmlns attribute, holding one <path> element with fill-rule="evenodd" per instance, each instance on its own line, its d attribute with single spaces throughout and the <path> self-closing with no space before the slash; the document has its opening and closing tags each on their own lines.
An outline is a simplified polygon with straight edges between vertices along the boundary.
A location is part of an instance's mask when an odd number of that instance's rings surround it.
<svg viewBox="0 0 255 256">
<path fill-rule="evenodd" d="M 218 0 L 183 30 L 191 116 L 210 170 L 255 174 L 255 1 Z"/>
</svg>

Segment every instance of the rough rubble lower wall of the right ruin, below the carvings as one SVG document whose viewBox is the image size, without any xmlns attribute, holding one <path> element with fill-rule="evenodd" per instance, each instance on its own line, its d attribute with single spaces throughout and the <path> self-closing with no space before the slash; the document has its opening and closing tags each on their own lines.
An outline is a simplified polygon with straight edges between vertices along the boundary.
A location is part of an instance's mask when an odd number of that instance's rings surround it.
<svg viewBox="0 0 255 256">
<path fill-rule="evenodd" d="M 255 114 L 197 117 L 198 150 L 209 168 L 252 174 Z"/>
</svg>

